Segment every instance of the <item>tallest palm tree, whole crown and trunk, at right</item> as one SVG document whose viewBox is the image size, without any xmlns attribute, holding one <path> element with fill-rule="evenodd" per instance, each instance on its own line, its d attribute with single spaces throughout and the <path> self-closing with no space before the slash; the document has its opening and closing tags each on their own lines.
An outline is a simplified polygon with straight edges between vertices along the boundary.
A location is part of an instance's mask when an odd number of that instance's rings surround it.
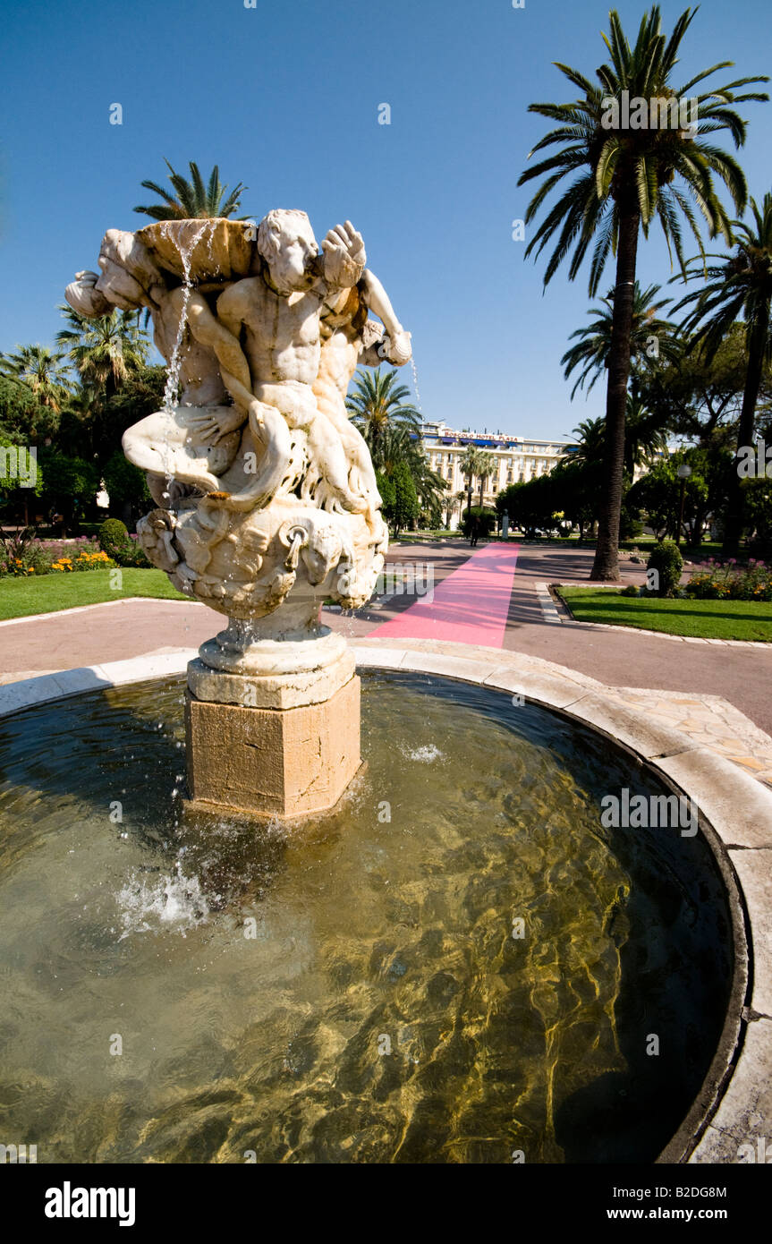
<svg viewBox="0 0 772 1244">
<path fill-rule="evenodd" d="M 659 6 L 654 5 L 644 14 L 635 44 L 630 46 L 619 15 L 613 10 L 609 14 L 610 36 L 603 35 L 610 60 L 597 70 L 599 85 L 590 82 L 578 70 L 558 63 L 561 72 L 578 87 L 579 97 L 571 103 L 528 106 L 530 112 L 557 122 L 557 128 L 545 134 L 531 154 L 547 147 L 558 146 L 559 149 L 520 178 L 520 185 L 543 178 L 528 204 L 526 224 L 535 220 L 547 195 L 567 173 L 576 172 L 578 177 L 547 211 L 526 248 L 526 255 L 532 251 L 540 255 L 557 234 L 557 243 L 545 271 L 545 285 L 572 248 L 568 276 L 573 280 L 594 241 L 589 267 L 590 297 L 598 291 L 609 253 L 613 251 L 617 258 L 605 402 L 605 480 L 592 569 L 592 578 L 607 582 L 619 580 L 624 415 L 630 373 L 639 234 L 643 230 L 644 238 L 648 238 L 651 223 L 659 220 L 671 261 L 675 251 L 684 271 L 681 216 L 694 233 L 700 253 L 704 253 L 692 210 L 694 202 L 705 218 L 710 236 L 722 234 L 731 240 L 731 221 L 716 194 L 714 174 L 727 188 L 738 213 L 745 209 L 746 180 L 736 159 L 706 141 L 706 136 L 728 129 L 735 147 L 741 147 L 746 123 L 730 104 L 768 98 L 766 93 L 758 92 L 736 93 L 738 87 L 766 82 L 767 77 L 737 78 L 724 87 L 692 97 L 697 102 L 696 129 L 681 122 L 678 116 L 679 102 L 686 101 L 697 83 L 711 73 L 732 63 L 722 61 L 695 75 L 682 86 L 674 87 L 679 49 L 695 12 L 696 10 L 686 9 L 678 19 L 670 39 L 666 39 L 661 32 Z M 630 126 L 630 100 L 646 103 L 653 114 L 653 124 L 646 119 L 645 128 Z M 668 124 L 669 119 L 675 122 L 673 127 Z M 640 123 L 639 113 L 635 122 Z"/>
</svg>

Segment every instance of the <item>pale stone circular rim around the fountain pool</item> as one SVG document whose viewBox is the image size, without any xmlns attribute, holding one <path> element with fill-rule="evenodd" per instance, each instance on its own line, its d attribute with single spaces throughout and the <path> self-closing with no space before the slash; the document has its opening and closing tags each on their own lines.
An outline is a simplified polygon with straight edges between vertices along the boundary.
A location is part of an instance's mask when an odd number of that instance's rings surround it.
<svg viewBox="0 0 772 1244">
<path fill-rule="evenodd" d="M 760 1128 L 768 1135 L 772 1112 L 763 1117 L 758 1085 L 772 1070 L 772 1021 L 758 1001 L 761 954 L 772 924 L 772 889 L 747 883 L 735 867 L 737 852 L 772 847 L 772 792 L 728 760 L 706 751 L 676 730 L 651 724 L 604 695 L 602 684 L 537 657 L 472 644 L 402 639 L 399 647 L 379 639 L 351 643 L 357 668 L 425 673 L 518 694 L 578 725 L 604 735 L 650 769 L 675 794 L 691 797 L 728 901 L 735 947 L 733 978 L 724 1029 L 711 1066 L 686 1118 L 658 1162 L 737 1162 L 742 1143 Z M 57 699 L 185 673 L 198 649 L 134 657 L 80 669 L 44 674 L 0 687 L 0 718 Z M 603 689 L 603 688 L 602 688 Z M 609 689 L 610 690 L 610 689 Z M 760 830 L 758 826 L 762 826 Z M 765 841 L 763 826 L 768 826 Z M 760 841 L 761 840 L 761 841 Z M 731 851 L 735 852 L 730 853 Z M 770 969 L 767 970 L 767 975 Z M 761 988 L 768 988 L 762 979 Z M 751 1040 L 747 1040 L 752 1029 Z M 753 1098 L 748 1091 L 756 1088 Z"/>
</svg>

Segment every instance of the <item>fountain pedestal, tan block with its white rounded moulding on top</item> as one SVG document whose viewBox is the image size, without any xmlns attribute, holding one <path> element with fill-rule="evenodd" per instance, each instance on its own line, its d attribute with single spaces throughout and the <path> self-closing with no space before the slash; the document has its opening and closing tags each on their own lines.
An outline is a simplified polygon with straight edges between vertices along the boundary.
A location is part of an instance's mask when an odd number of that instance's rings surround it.
<svg viewBox="0 0 772 1244">
<path fill-rule="evenodd" d="M 278 617 L 262 620 L 259 633 L 271 622 Z M 286 627 L 285 612 L 281 632 L 255 638 L 250 623 L 231 620 L 190 662 L 189 807 L 278 817 L 323 812 L 359 769 L 353 654 L 318 622 Z"/>
</svg>

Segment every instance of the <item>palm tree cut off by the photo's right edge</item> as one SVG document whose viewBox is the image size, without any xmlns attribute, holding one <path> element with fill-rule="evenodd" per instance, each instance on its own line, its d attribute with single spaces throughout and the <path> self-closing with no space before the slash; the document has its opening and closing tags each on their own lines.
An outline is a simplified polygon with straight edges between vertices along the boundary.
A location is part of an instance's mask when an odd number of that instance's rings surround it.
<svg viewBox="0 0 772 1244">
<path fill-rule="evenodd" d="M 712 362 L 719 346 L 726 338 L 735 321 L 745 320 L 747 371 L 742 393 L 742 408 L 737 430 L 737 450 L 753 439 L 756 406 L 765 366 L 772 361 L 772 333 L 770 310 L 772 306 L 772 194 L 767 192 L 761 205 L 751 199 L 755 226 L 733 220 L 736 253 L 731 259 L 707 269 L 700 264 L 690 266 L 687 276 L 705 275 L 707 284 L 681 299 L 675 311 L 694 304 L 682 325 L 690 336 L 687 350 L 704 347 L 706 363 Z M 695 265 L 695 260 L 690 260 Z M 743 498 L 737 471 L 732 471 L 724 539 L 724 552 L 736 557 L 742 535 Z"/>
</svg>

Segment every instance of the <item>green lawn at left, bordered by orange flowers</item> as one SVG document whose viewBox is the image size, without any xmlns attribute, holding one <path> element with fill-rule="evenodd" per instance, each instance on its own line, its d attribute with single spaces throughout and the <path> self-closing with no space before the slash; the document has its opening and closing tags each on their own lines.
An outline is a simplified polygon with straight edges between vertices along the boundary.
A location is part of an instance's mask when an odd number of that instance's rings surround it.
<svg viewBox="0 0 772 1244">
<path fill-rule="evenodd" d="M 0 620 L 24 618 L 53 610 L 72 610 L 78 605 L 101 605 L 129 596 L 153 600 L 188 600 L 178 592 L 162 570 L 123 570 L 121 591 L 109 586 L 109 570 L 82 570 L 71 575 L 41 575 L 35 578 L 0 578 Z"/>
</svg>

